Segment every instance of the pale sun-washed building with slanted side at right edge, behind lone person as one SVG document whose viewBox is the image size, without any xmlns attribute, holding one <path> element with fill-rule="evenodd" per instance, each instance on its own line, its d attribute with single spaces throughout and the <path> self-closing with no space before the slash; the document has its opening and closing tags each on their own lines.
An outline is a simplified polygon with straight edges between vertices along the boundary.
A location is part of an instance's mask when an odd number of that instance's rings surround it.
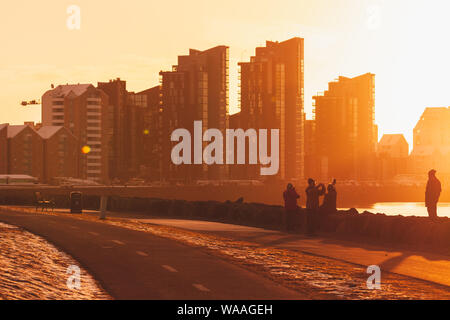
<svg viewBox="0 0 450 320">
<path fill-rule="evenodd" d="M 412 170 L 450 173 L 450 107 L 426 108 L 414 128 Z"/>
</svg>

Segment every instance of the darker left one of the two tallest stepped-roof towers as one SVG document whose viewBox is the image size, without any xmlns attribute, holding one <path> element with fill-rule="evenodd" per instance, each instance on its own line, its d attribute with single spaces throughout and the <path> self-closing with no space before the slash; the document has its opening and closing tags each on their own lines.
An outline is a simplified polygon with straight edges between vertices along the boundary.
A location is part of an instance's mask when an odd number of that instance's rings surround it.
<svg viewBox="0 0 450 320">
<path fill-rule="evenodd" d="M 224 179 L 225 165 L 174 165 L 170 152 L 174 143 L 170 135 L 185 128 L 193 136 L 194 121 L 202 121 L 203 132 L 228 127 L 228 47 L 217 46 L 205 51 L 190 49 L 179 56 L 172 71 L 160 72 L 162 109 L 162 176 L 169 180 L 193 181 Z M 206 145 L 204 143 L 204 145 Z"/>
</svg>

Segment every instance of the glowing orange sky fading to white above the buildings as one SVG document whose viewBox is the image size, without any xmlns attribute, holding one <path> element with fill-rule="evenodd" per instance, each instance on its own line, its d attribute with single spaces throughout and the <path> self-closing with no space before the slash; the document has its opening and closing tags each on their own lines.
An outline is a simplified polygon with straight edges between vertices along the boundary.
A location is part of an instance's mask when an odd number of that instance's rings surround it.
<svg viewBox="0 0 450 320">
<path fill-rule="evenodd" d="M 66 9 L 81 8 L 81 30 Z M 230 46 L 230 110 L 237 62 L 265 40 L 305 38 L 305 108 L 339 75 L 376 74 L 376 121 L 404 133 L 425 107 L 450 106 L 448 0 L 15 0 L 0 11 L 0 123 L 40 121 L 51 83 L 121 77 L 128 89 L 158 84 L 158 72 L 189 48 Z"/>
</svg>

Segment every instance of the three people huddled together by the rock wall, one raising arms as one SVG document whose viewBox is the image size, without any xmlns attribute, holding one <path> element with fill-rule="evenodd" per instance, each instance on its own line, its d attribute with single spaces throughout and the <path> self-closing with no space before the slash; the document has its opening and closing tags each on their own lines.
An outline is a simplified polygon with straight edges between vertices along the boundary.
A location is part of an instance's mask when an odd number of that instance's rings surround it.
<svg viewBox="0 0 450 320">
<path fill-rule="evenodd" d="M 308 179 L 308 187 L 306 193 L 306 232 L 308 235 L 314 235 L 317 221 L 324 216 L 334 213 L 337 210 L 337 192 L 336 179 L 330 183 L 327 188 L 323 183 L 316 185 L 314 179 Z M 322 205 L 320 205 L 320 197 L 324 196 Z M 285 229 L 288 232 L 294 229 L 294 220 L 298 212 L 297 199 L 300 195 L 291 183 L 288 183 L 283 193 L 285 205 Z"/>
</svg>

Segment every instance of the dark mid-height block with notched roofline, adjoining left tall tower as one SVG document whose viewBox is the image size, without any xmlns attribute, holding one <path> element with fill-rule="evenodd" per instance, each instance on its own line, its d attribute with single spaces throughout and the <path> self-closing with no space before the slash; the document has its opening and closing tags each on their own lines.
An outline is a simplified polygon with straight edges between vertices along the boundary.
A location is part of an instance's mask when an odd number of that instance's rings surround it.
<svg viewBox="0 0 450 320">
<path fill-rule="evenodd" d="M 110 177 L 159 180 L 160 86 L 129 92 L 126 82 L 117 78 L 99 82 L 98 88 L 110 97 Z"/>
</svg>

